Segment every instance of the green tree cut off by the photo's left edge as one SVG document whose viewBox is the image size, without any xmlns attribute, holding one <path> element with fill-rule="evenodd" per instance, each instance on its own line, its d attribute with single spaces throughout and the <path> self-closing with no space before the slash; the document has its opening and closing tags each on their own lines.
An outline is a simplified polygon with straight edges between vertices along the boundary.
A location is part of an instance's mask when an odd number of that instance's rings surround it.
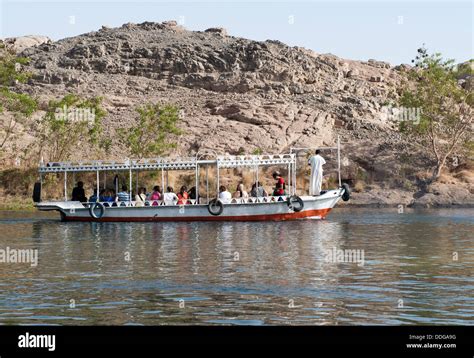
<svg viewBox="0 0 474 358">
<path fill-rule="evenodd" d="M 23 71 L 28 59 L 17 57 L 0 43 L 0 149 L 16 139 L 21 131 L 19 126 L 26 126 L 27 120 L 37 110 L 37 102 L 27 94 L 17 93 L 11 89 L 17 83 L 24 83 L 30 78 L 29 72 Z"/>
</svg>

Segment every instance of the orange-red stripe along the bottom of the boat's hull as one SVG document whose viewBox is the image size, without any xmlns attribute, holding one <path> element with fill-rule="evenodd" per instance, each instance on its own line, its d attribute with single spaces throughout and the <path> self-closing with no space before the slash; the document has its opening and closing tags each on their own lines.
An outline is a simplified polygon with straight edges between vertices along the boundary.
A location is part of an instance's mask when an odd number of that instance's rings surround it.
<svg viewBox="0 0 474 358">
<path fill-rule="evenodd" d="M 304 219 L 307 217 L 319 216 L 325 218 L 331 211 L 328 209 L 305 210 L 299 213 L 287 214 L 267 214 L 267 215 L 248 215 L 248 216 L 191 216 L 191 217 L 110 217 L 94 219 L 92 217 L 65 216 L 65 221 L 95 221 L 95 222 L 163 222 L 163 221 L 285 221 Z"/>
</svg>

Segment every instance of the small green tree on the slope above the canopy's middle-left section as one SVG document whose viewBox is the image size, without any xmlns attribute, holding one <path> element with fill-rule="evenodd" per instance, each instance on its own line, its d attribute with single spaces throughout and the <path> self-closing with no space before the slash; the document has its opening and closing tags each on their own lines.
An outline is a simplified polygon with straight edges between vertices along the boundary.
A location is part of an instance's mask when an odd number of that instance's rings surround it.
<svg viewBox="0 0 474 358">
<path fill-rule="evenodd" d="M 177 127 L 179 108 L 171 104 L 146 104 L 136 109 L 138 120 L 130 128 L 118 130 L 129 155 L 138 159 L 161 156 L 176 148 L 173 137 L 181 134 Z"/>
</svg>

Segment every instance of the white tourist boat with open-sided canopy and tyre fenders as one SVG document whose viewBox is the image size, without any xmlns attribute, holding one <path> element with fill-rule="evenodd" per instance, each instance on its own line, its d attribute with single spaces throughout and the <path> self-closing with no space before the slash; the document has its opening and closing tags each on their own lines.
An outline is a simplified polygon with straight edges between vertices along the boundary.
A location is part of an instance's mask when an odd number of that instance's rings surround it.
<svg viewBox="0 0 474 358">
<path fill-rule="evenodd" d="M 82 161 L 82 162 L 49 162 L 40 163 L 40 181 L 35 184 L 33 199 L 36 208 L 42 211 L 58 211 L 63 221 L 279 221 L 303 218 L 325 218 L 336 203 L 342 198 L 349 200 L 349 187 L 347 184 L 341 185 L 340 176 L 340 150 L 338 151 L 338 179 L 339 187 L 327 190 L 318 196 L 299 195 L 296 188 L 296 164 L 298 150 L 291 149 L 288 154 L 276 155 L 222 155 L 213 153 L 198 153 L 192 158 L 179 159 L 127 159 L 125 161 Z M 256 182 L 258 182 L 259 167 L 283 166 L 287 172 L 287 195 L 265 196 L 231 199 L 227 202 L 216 199 L 216 194 L 220 186 L 219 174 L 222 169 L 250 168 L 255 172 Z M 209 169 L 215 168 L 216 188 L 209 190 Z M 205 170 L 205 185 L 200 183 L 200 171 Z M 131 188 L 133 174 L 142 171 L 161 172 L 162 187 L 167 186 L 168 171 L 187 170 L 195 172 L 195 199 L 188 199 L 184 205 L 177 202 L 146 201 L 144 206 L 136 206 L 136 202 L 117 202 L 114 204 L 105 202 L 87 202 L 68 200 L 68 174 L 81 172 L 95 172 L 97 192 L 99 192 L 101 173 L 104 175 L 102 182 L 105 188 L 107 174 L 128 172 L 128 189 L 132 198 Z M 43 176 L 46 174 L 64 175 L 64 200 L 63 201 L 41 201 L 41 189 Z M 114 185 L 118 187 L 114 178 Z M 137 185 L 137 183 L 135 183 Z M 202 188 L 203 195 L 199 192 Z M 205 189 L 205 190 L 204 190 Z"/>
</svg>

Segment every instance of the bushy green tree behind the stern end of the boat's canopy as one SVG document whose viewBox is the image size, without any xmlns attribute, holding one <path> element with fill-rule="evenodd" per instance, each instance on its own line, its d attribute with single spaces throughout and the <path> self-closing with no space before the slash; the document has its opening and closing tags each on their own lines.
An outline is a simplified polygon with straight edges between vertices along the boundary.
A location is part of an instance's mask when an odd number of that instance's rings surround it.
<svg viewBox="0 0 474 358">
<path fill-rule="evenodd" d="M 67 94 L 48 103 L 46 114 L 37 124 L 39 153 L 49 161 L 63 161 L 86 145 L 104 148 L 102 119 L 107 114 L 102 98 L 80 98 Z"/>
</svg>

